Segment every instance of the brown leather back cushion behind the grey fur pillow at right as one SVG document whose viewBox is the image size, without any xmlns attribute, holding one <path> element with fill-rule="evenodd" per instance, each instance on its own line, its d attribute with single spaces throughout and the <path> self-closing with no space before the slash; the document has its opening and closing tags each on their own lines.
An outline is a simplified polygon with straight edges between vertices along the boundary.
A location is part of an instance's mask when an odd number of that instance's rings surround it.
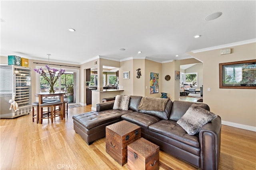
<svg viewBox="0 0 256 170">
<path fill-rule="evenodd" d="M 208 111 L 210 111 L 210 107 L 207 104 L 203 103 L 192 103 L 192 102 L 182 102 L 182 101 L 174 101 L 172 104 L 172 109 L 170 112 L 170 120 L 178 121 L 188 110 L 188 108 L 192 105 L 196 104 L 199 107 L 202 107 Z"/>
</svg>

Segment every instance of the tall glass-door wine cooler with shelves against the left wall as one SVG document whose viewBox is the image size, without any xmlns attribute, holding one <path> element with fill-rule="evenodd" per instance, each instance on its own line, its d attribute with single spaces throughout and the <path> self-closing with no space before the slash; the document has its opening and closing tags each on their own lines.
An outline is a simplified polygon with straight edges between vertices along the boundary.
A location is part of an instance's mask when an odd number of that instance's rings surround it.
<svg viewBox="0 0 256 170">
<path fill-rule="evenodd" d="M 14 118 L 32 112 L 31 69 L 0 66 L 0 118 Z"/>
</svg>

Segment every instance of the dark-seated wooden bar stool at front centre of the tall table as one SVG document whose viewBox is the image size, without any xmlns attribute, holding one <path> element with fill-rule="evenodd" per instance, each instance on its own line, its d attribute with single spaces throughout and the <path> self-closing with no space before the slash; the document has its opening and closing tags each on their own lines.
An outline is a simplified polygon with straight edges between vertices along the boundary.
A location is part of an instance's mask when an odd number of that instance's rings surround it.
<svg viewBox="0 0 256 170">
<path fill-rule="evenodd" d="M 63 104 L 63 102 L 46 102 L 46 103 L 40 104 L 42 111 L 43 111 L 44 107 L 50 108 L 50 117 L 49 116 L 46 117 L 46 116 L 44 116 L 44 114 L 42 114 L 42 116 L 39 119 L 42 119 L 42 121 L 43 121 L 43 119 L 51 118 L 51 121 L 53 122 L 53 118 L 62 116 L 62 110 L 61 110 L 62 104 Z M 56 106 L 58 106 L 59 109 L 56 110 L 55 109 Z M 64 113 L 64 111 L 63 111 L 63 113 Z"/>
</svg>

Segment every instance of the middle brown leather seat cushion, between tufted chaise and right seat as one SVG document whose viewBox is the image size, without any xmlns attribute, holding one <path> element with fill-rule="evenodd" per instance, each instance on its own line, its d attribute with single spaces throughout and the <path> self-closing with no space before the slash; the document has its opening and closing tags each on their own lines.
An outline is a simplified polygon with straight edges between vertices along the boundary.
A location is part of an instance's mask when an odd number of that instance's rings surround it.
<svg viewBox="0 0 256 170">
<path fill-rule="evenodd" d="M 146 129 L 148 129 L 149 125 L 152 125 L 153 123 L 156 123 L 161 120 L 159 117 L 156 117 L 154 115 L 140 113 L 138 111 L 134 111 L 132 113 L 127 113 L 125 115 L 122 115 L 121 118 L 123 120 L 127 120 L 132 123 L 135 123 L 136 125 L 139 125 L 140 127 L 144 127 Z"/>
</svg>

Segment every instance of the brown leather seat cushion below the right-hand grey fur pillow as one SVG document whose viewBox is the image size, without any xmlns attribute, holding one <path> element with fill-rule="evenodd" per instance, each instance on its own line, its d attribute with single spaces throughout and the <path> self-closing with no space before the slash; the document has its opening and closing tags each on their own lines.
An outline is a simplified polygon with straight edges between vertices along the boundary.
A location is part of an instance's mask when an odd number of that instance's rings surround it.
<svg viewBox="0 0 256 170">
<path fill-rule="evenodd" d="M 186 133 L 186 131 L 178 125 L 176 121 L 161 120 L 150 125 L 148 129 L 182 143 L 186 143 L 197 148 L 200 147 L 199 137 L 197 135 L 188 135 L 188 133 Z"/>
</svg>

